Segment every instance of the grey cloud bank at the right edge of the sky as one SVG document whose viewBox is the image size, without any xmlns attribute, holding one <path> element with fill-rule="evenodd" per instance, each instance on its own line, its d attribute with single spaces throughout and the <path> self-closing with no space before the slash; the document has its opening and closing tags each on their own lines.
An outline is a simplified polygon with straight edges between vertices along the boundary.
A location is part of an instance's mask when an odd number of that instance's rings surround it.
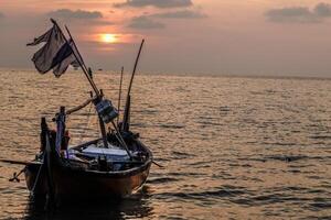
<svg viewBox="0 0 331 220">
<path fill-rule="evenodd" d="M 279 23 L 320 23 L 331 18 L 331 4 L 318 3 L 313 9 L 307 7 L 271 9 L 265 15 L 269 21 Z"/>
</svg>

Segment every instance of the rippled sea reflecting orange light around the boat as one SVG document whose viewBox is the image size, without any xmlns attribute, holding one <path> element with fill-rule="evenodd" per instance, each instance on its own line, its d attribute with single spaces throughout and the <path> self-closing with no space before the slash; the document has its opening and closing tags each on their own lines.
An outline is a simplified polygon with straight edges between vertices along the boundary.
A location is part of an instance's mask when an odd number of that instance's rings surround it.
<svg viewBox="0 0 331 220">
<path fill-rule="evenodd" d="M 117 105 L 119 75 L 95 80 Z M 78 72 L 1 70 L 0 85 L 0 157 L 22 161 L 40 117 L 90 90 Z M 331 80 L 137 75 L 132 94 L 132 130 L 164 166 L 140 191 L 45 212 L 8 180 L 22 166 L 0 163 L 0 219 L 331 219 Z M 68 118 L 72 144 L 98 134 L 89 112 Z"/>
</svg>

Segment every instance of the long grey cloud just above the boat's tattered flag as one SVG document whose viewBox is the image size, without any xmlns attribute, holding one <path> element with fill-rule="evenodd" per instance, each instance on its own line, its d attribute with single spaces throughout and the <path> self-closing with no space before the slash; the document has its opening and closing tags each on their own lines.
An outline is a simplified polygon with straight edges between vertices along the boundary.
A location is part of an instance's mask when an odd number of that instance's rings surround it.
<svg viewBox="0 0 331 220">
<path fill-rule="evenodd" d="M 47 13 L 52 18 L 61 19 L 100 19 L 103 18 L 99 11 L 84 11 L 84 10 L 70 10 L 70 9 L 58 9 L 56 11 L 51 11 Z"/>
</svg>

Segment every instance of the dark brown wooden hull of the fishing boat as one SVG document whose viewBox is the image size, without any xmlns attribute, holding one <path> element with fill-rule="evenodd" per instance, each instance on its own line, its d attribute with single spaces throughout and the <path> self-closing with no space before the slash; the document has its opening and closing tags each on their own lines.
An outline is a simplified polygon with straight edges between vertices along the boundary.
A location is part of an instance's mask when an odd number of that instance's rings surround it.
<svg viewBox="0 0 331 220">
<path fill-rule="evenodd" d="M 31 163 L 25 166 L 28 189 L 35 196 L 45 196 L 52 189 L 56 198 L 131 195 L 146 183 L 152 163 L 150 150 L 139 141 L 136 143 L 147 154 L 145 162 L 117 172 L 89 169 L 87 164 L 51 153 L 51 160 L 46 160 L 49 163 Z"/>
</svg>

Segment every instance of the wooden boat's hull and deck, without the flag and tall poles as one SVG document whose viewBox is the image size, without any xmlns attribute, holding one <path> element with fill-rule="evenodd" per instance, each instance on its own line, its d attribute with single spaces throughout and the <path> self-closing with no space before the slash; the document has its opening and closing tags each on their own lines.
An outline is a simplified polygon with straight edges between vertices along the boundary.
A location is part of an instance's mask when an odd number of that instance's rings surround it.
<svg viewBox="0 0 331 220">
<path fill-rule="evenodd" d="M 63 109 L 57 118 L 65 116 Z M 49 130 L 45 118 L 41 128 L 42 151 L 24 169 L 28 189 L 34 196 L 53 196 L 56 200 L 73 196 L 125 197 L 148 177 L 152 153 L 137 134 L 121 133 L 129 153 L 121 147 L 120 138 L 109 132 L 107 147 L 100 138 L 68 148 L 61 145 L 58 154 L 57 131 Z M 62 144 L 66 144 L 65 139 Z"/>
</svg>

